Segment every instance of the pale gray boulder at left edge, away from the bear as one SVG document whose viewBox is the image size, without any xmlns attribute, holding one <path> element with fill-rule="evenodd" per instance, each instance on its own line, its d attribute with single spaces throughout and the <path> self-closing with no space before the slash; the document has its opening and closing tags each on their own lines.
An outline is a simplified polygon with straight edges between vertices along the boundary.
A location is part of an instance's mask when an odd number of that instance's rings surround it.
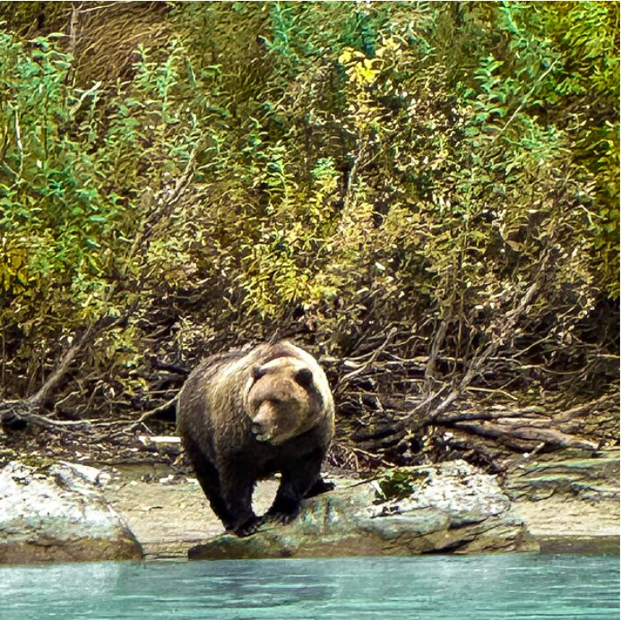
<svg viewBox="0 0 621 620">
<path fill-rule="evenodd" d="M 99 469 L 59 462 L 0 469 L 0 564 L 142 557 L 97 487 Z"/>
</svg>

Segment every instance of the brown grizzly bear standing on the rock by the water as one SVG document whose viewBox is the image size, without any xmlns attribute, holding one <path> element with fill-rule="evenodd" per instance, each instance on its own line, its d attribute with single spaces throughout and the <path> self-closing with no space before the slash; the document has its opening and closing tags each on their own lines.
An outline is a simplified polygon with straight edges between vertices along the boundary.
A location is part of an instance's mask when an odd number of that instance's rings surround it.
<svg viewBox="0 0 621 620">
<path fill-rule="evenodd" d="M 304 497 L 333 487 L 320 476 L 332 392 L 315 358 L 286 340 L 205 359 L 179 394 L 177 426 L 213 512 L 237 536 L 292 521 Z M 277 472 L 280 487 L 260 519 L 254 484 Z"/>
</svg>

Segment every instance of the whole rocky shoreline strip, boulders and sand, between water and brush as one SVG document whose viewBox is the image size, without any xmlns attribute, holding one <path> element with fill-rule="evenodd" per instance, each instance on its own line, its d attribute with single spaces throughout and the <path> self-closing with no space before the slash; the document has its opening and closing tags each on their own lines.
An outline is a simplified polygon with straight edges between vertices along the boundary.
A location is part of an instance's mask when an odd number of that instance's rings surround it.
<svg viewBox="0 0 621 620">
<path fill-rule="evenodd" d="M 410 474 L 405 491 L 333 476 L 335 491 L 306 500 L 293 523 L 236 538 L 193 478 L 163 466 L 12 461 L 0 469 L 0 564 L 181 559 L 190 550 L 192 558 L 618 550 L 618 452 L 524 462 L 500 486 L 463 461 Z M 257 487 L 256 512 L 277 486 Z"/>
</svg>

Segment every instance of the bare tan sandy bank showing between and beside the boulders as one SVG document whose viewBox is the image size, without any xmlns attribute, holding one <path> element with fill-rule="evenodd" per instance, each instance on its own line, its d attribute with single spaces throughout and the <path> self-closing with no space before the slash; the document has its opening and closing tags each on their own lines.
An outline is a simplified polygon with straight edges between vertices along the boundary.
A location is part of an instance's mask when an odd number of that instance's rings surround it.
<svg viewBox="0 0 621 620">
<path fill-rule="evenodd" d="M 598 459 L 539 461 L 516 468 L 502 487 L 544 553 L 599 553 L 619 548 L 618 452 Z M 190 547 L 224 532 L 194 478 L 153 463 L 110 470 L 103 493 L 142 544 L 147 559 L 185 557 Z M 355 481 L 332 471 L 337 487 Z M 255 489 L 264 512 L 277 480 Z"/>
</svg>

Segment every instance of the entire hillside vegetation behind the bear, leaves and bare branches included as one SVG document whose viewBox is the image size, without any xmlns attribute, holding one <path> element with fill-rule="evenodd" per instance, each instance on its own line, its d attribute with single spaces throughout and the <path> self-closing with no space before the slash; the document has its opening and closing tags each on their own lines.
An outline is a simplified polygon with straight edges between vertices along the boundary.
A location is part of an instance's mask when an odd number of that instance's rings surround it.
<svg viewBox="0 0 621 620">
<path fill-rule="evenodd" d="M 7 432 L 129 436 L 200 357 L 287 337 L 340 464 L 618 443 L 617 3 L 0 20 Z"/>
</svg>

